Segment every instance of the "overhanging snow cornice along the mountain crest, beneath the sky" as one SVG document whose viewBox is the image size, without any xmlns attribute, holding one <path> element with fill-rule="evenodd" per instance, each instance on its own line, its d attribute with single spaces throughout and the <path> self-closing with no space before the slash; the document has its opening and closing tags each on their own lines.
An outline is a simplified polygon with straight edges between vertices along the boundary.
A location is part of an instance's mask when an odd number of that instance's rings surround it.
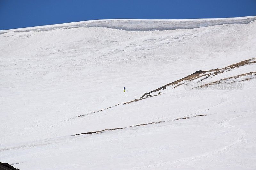
<svg viewBox="0 0 256 170">
<path fill-rule="evenodd" d="M 49 26 L 36 26 L 29 28 L 19 28 L 0 31 L 0 34 L 28 31 L 49 31 L 56 29 L 70 29 L 78 27 L 106 27 L 121 29 L 126 31 L 154 31 L 154 30 L 174 30 L 191 29 L 223 24 L 248 24 L 256 20 L 256 16 L 239 18 L 208 18 L 208 19 L 102 19 L 81 21 Z"/>
</svg>

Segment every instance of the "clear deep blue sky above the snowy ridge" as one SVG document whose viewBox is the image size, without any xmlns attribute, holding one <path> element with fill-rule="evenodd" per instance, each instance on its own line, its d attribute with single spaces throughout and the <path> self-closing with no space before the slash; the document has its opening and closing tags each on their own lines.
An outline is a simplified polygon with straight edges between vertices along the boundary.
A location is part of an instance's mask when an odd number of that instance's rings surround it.
<svg viewBox="0 0 256 170">
<path fill-rule="evenodd" d="M 256 15 L 256 0 L 0 0 L 0 30 L 93 19 Z"/>
</svg>

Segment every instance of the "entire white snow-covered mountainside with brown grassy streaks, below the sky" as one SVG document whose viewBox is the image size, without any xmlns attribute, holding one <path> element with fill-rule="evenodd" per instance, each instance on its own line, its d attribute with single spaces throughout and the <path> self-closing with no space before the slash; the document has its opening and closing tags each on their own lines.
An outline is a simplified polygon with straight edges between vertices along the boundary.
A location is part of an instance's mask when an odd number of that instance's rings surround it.
<svg viewBox="0 0 256 170">
<path fill-rule="evenodd" d="M 255 20 L 0 31 L 0 161 L 21 170 L 256 169 Z"/>
</svg>

